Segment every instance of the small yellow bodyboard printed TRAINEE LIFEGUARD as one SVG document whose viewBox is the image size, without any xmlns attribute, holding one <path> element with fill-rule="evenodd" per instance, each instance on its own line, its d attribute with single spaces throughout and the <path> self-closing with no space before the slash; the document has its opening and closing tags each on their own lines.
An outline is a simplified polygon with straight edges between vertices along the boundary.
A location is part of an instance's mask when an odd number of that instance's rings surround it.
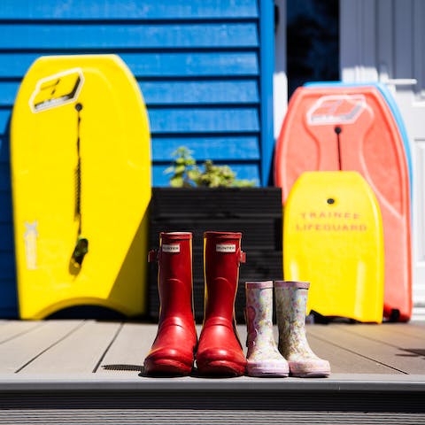
<svg viewBox="0 0 425 425">
<path fill-rule="evenodd" d="M 383 224 L 360 174 L 307 172 L 284 206 L 283 275 L 311 282 L 307 313 L 383 321 Z"/>
</svg>

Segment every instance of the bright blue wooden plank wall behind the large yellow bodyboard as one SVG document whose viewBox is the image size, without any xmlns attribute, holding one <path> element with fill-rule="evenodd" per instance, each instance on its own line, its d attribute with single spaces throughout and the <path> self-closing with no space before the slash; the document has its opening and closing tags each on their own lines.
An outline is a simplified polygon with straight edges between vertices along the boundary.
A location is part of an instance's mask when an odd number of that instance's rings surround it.
<svg viewBox="0 0 425 425">
<path fill-rule="evenodd" d="M 35 58 L 120 55 L 148 107 L 155 186 L 182 145 L 267 185 L 273 27 L 273 0 L 0 1 L 0 317 L 16 315 L 9 123 Z"/>
</svg>

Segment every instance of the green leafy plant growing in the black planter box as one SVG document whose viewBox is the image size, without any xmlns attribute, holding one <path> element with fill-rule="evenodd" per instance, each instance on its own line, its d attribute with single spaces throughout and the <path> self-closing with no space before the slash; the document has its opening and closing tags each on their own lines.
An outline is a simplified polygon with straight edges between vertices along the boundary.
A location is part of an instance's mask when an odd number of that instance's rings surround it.
<svg viewBox="0 0 425 425">
<path fill-rule="evenodd" d="M 174 162 L 165 171 L 172 174 L 170 177 L 172 187 L 242 188 L 255 185 L 255 181 L 236 179 L 236 173 L 229 166 L 216 166 L 211 159 L 205 160 L 201 169 L 192 158 L 192 153 L 185 146 L 173 152 Z"/>
</svg>

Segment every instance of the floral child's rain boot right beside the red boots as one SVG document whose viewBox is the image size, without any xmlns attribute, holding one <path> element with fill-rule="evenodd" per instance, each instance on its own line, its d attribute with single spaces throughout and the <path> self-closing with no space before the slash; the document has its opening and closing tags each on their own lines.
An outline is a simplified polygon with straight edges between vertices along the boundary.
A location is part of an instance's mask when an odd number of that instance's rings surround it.
<svg viewBox="0 0 425 425">
<path fill-rule="evenodd" d="M 273 282 L 246 282 L 246 375 L 288 376 L 290 368 L 273 335 Z"/>
</svg>

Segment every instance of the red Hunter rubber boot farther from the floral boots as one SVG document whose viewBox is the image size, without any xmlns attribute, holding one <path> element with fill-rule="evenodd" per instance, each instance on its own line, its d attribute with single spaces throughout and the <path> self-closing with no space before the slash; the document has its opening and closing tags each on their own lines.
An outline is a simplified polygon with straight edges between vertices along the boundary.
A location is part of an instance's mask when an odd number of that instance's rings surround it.
<svg viewBox="0 0 425 425">
<path fill-rule="evenodd" d="M 192 298 L 192 234 L 161 233 L 159 245 L 158 334 L 144 359 L 144 371 L 147 375 L 189 375 L 197 347 Z"/>
</svg>

